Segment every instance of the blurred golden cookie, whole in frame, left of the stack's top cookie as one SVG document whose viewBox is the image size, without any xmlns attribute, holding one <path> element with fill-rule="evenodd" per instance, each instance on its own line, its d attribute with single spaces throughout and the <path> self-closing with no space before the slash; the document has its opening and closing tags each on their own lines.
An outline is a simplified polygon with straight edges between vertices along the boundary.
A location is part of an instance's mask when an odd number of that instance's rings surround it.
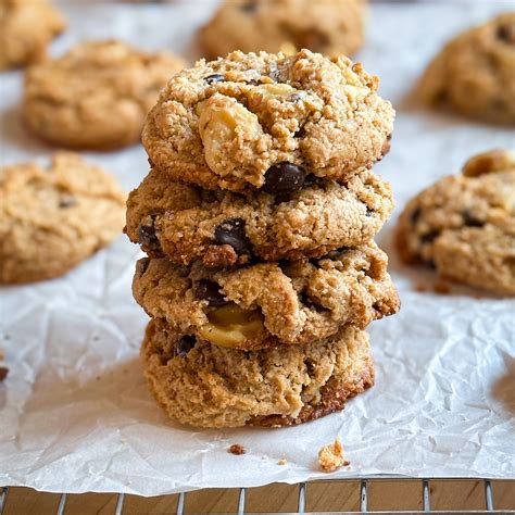
<svg viewBox="0 0 515 515">
<path fill-rule="evenodd" d="M 183 64 L 114 40 L 78 45 L 27 71 L 25 121 L 42 139 L 66 148 L 136 143 L 159 90 Z"/>
</svg>

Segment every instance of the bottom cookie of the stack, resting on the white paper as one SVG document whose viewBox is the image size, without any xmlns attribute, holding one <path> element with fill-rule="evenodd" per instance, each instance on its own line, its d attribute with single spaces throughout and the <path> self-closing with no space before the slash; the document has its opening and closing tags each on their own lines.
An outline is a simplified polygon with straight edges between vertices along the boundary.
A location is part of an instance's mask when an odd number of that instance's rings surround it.
<svg viewBox="0 0 515 515">
<path fill-rule="evenodd" d="M 366 332 L 255 352 L 166 334 L 150 322 L 145 375 L 167 415 L 199 427 L 289 426 L 343 409 L 374 384 Z"/>
</svg>

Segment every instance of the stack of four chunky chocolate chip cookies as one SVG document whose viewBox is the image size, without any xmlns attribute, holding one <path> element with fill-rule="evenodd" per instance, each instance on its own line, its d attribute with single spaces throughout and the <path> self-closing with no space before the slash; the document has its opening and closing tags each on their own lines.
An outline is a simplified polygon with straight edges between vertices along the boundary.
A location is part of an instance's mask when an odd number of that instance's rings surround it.
<svg viewBox="0 0 515 515">
<path fill-rule="evenodd" d="M 126 233 L 148 254 L 146 376 L 174 419 L 300 424 L 372 386 L 364 329 L 399 309 L 373 241 L 392 210 L 370 171 L 394 116 L 377 87 L 302 50 L 200 61 L 161 92 Z"/>
</svg>

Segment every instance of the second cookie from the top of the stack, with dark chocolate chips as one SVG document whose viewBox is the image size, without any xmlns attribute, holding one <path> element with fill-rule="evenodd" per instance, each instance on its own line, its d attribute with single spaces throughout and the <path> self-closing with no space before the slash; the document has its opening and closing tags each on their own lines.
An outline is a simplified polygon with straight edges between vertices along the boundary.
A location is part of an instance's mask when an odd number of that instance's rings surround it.
<svg viewBox="0 0 515 515">
<path fill-rule="evenodd" d="M 369 171 L 346 185 L 316 180 L 288 194 L 205 190 L 154 168 L 127 201 L 126 231 L 153 258 L 205 266 L 319 258 L 372 239 L 393 208 L 388 183 Z"/>
</svg>

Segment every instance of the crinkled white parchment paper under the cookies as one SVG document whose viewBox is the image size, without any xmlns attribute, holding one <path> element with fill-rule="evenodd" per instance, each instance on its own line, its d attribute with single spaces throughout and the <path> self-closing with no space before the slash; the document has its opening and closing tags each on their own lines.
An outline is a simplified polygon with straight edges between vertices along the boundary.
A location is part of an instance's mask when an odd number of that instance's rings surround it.
<svg viewBox="0 0 515 515">
<path fill-rule="evenodd" d="M 374 4 L 359 55 L 398 109 L 391 153 L 376 169 L 393 184 L 398 210 L 379 235 L 399 286 L 399 315 L 370 335 L 376 386 L 343 413 L 279 430 L 194 430 L 171 423 L 138 362 L 146 315 L 130 294 L 136 246 L 121 237 L 66 277 L 2 288 L 0 485 L 50 491 L 143 495 L 204 487 L 259 486 L 328 477 L 317 450 L 339 435 L 352 465 L 332 477 L 372 474 L 514 477 L 515 342 L 511 300 L 419 293 L 430 272 L 403 266 L 392 246 L 406 200 L 456 173 L 475 152 L 514 146 L 510 129 L 402 106 L 428 59 L 457 30 L 511 2 Z M 121 37 L 146 49 L 194 56 L 194 32 L 212 2 L 122 5 L 62 2 L 68 30 L 52 52 L 83 38 Z M 1 75 L 1 160 L 43 159 L 52 149 L 20 120 L 21 73 Z M 143 150 L 90 153 L 128 189 L 148 172 Z M 227 452 L 240 443 L 247 454 Z M 285 457 L 287 465 L 277 462 Z"/>
</svg>

